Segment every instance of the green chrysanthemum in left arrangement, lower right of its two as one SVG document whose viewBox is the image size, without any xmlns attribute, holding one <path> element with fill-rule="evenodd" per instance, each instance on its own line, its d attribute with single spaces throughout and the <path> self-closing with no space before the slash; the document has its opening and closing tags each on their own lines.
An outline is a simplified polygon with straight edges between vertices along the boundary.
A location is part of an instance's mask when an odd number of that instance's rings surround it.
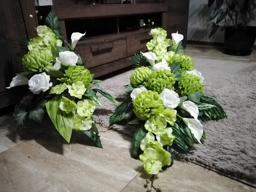
<svg viewBox="0 0 256 192">
<path fill-rule="evenodd" d="M 83 66 L 71 66 L 65 70 L 66 83 L 72 85 L 73 82 L 82 81 L 86 88 L 91 84 L 92 79 L 90 71 Z M 64 78 L 65 79 L 65 78 Z M 62 79 L 63 80 L 63 79 Z M 65 82 L 65 81 L 64 81 Z"/>
</svg>

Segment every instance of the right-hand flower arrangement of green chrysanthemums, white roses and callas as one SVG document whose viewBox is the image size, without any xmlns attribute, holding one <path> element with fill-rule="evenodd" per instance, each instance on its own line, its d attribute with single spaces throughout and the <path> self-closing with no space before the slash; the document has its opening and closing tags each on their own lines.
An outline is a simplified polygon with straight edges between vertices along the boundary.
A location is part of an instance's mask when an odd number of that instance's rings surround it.
<svg viewBox="0 0 256 192">
<path fill-rule="evenodd" d="M 136 69 L 110 124 L 126 121 L 137 127 L 132 155 L 143 162 L 146 173 L 155 175 L 173 164 L 173 151 L 190 153 L 193 144 L 205 141 L 202 121 L 226 114 L 203 92 L 204 78 L 183 53 L 183 35 L 167 39 L 161 28 L 150 34 L 149 52 L 131 58 Z"/>
</svg>

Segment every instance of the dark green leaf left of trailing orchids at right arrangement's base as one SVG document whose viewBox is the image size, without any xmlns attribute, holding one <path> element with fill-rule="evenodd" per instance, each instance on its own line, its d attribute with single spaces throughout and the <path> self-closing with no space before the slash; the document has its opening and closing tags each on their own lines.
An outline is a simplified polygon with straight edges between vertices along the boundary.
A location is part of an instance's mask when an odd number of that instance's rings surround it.
<svg viewBox="0 0 256 192">
<path fill-rule="evenodd" d="M 137 129 L 135 131 L 133 137 L 133 143 L 131 144 L 132 156 L 133 158 L 138 158 L 140 154 L 142 154 L 142 150 L 140 148 L 141 141 L 147 134 L 147 130 L 144 128 L 144 122 L 141 122 L 137 125 Z"/>
</svg>

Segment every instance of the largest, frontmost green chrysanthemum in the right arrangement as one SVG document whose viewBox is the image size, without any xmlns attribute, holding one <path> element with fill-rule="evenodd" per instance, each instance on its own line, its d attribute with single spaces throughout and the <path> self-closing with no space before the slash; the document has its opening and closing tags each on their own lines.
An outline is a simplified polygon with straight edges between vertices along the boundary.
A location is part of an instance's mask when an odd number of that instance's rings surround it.
<svg viewBox="0 0 256 192">
<path fill-rule="evenodd" d="M 133 103 L 134 113 L 139 119 L 147 120 L 156 117 L 164 109 L 162 100 L 155 91 L 142 91 Z"/>
</svg>

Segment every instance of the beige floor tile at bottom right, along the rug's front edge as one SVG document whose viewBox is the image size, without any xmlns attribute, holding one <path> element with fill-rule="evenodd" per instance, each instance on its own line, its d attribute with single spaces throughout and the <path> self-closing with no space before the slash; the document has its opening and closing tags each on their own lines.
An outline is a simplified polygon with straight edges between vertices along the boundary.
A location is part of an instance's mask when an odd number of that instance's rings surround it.
<svg viewBox="0 0 256 192">
<path fill-rule="evenodd" d="M 122 192 L 146 192 L 146 178 L 150 177 L 141 171 Z M 154 180 L 154 187 L 160 187 L 162 192 L 256 192 L 256 189 L 233 179 L 181 161 L 174 161 L 172 167 L 159 173 Z M 152 192 L 155 192 L 153 188 Z"/>
</svg>

